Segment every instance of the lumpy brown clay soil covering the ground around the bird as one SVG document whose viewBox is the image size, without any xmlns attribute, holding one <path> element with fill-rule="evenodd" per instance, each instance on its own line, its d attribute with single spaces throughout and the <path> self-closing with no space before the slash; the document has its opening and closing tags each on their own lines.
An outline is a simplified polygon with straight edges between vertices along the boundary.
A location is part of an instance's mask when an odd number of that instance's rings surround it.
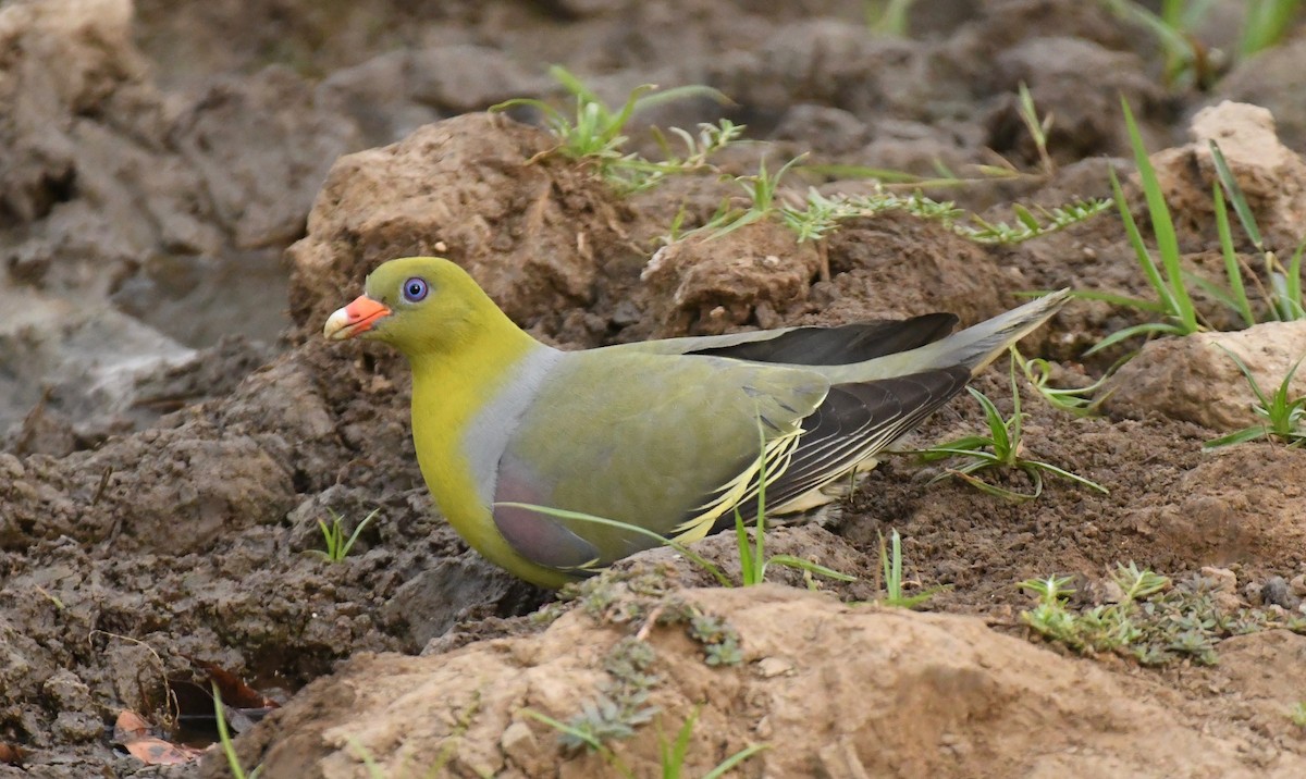
<svg viewBox="0 0 1306 779">
<path fill-rule="evenodd" d="M 239 759 L 264 779 L 661 775 L 660 744 L 691 716 L 686 775 L 764 745 L 737 775 L 1306 776 L 1306 728 L 1290 718 L 1306 701 L 1306 635 L 1292 629 L 1306 451 L 1203 453 L 1250 398 L 1226 363 L 1203 373 L 1195 346 L 1149 346 L 1091 416 L 1023 384 L 1025 454 L 1106 495 L 1053 478 L 1013 502 L 895 455 L 820 525 L 769 538 L 854 583 L 776 569 L 774 583 L 727 590 L 660 551 L 559 600 L 434 512 L 402 361 L 321 342 L 371 267 L 424 253 L 466 266 L 565 348 L 932 311 L 972 324 L 1029 290 L 1151 296 L 1114 210 L 1011 245 L 902 214 L 858 219 L 825 239 L 828 279 L 816 245 L 774 222 L 650 264 L 678 214 L 695 227 L 741 191 L 697 175 L 619 196 L 550 154 L 537 114 L 486 112 L 515 97 L 569 110 L 551 63 L 614 103 L 641 84 L 733 100 L 639 115 L 632 151 L 657 153 L 649 125 L 729 117 L 756 144 L 726 150 L 722 172 L 802 153 L 926 176 L 942 163 L 974 181 L 927 193 L 990 221 L 1012 219 L 1012 202 L 1109 197 L 1113 168 L 1141 219 L 1124 97 L 1149 147 L 1168 150 L 1157 164 L 1195 273 L 1220 270 L 1209 158 L 1186 146 L 1202 132 L 1255 150 L 1230 158 L 1262 227 L 1284 256 L 1301 240 L 1306 106 L 1286 86 L 1306 68 L 1299 30 L 1198 89 L 1166 85 L 1155 39 L 1102 4 L 919 0 L 906 38 L 868 31 L 865 5 L 0 7 L 0 778 L 231 776 L 215 749 L 148 765 L 114 732 L 127 710 L 153 737 L 212 744 L 212 720 L 187 729 L 176 714 L 212 714 L 187 697 L 214 668 L 277 703 L 257 724 L 234 718 Z M 1241 8 L 1215 4 L 1207 46 L 1235 48 Z M 1053 117 L 1046 163 L 1017 115 L 1021 82 Z M 1199 115 L 1225 100 L 1249 106 Z M 782 189 L 807 187 L 868 184 L 806 172 Z M 1023 350 L 1053 361 L 1054 382 L 1084 385 L 1127 354 L 1085 350 L 1140 321 L 1075 300 Z M 1276 330 L 1243 354 L 1290 364 L 1288 343 L 1299 352 L 1306 334 Z M 1004 361 L 976 385 L 1010 412 Z M 904 446 L 981 424 L 963 395 Z M 319 521 L 353 527 L 374 510 L 345 560 L 313 553 Z M 874 603 L 892 530 L 909 594 L 940 587 L 916 611 Z M 701 547 L 737 574 L 731 544 Z M 1076 654 L 1023 622 L 1034 600 L 1019 582 L 1072 577 L 1074 608 L 1109 604 L 1110 573 L 1130 561 L 1263 628 L 1216 635 L 1215 664 L 1181 652 L 1153 667 Z M 675 615 L 716 628 L 695 639 Z M 709 664 L 724 635 L 735 662 Z M 560 745 L 530 712 L 568 720 L 620 698 L 636 637 L 656 677 L 646 722 L 610 741 L 615 757 Z"/>
</svg>

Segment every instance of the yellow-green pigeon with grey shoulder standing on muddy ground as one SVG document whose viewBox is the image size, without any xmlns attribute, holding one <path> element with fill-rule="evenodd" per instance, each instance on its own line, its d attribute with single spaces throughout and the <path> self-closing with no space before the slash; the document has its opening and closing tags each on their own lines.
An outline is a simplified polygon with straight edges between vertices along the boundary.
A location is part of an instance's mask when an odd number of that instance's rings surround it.
<svg viewBox="0 0 1306 779">
<path fill-rule="evenodd" d="M 323 334 L 407 359 L 439 512 L 488 561 L 550 588 L 660 539 L 699 540 L 737 510 L 755 518 L 761 476 L 767 517 L 835 500 L 1071 294 L 959 333 L 931 313 L 563 351 L 447 258 L 389 260 L 363 290 Z"/>
</svg>

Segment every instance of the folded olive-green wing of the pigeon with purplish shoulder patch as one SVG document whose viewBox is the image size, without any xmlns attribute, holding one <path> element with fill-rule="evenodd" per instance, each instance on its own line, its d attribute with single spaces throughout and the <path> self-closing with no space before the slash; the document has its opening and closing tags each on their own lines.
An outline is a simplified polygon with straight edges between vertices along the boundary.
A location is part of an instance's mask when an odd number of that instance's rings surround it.
<svg viewBox="0 0 1306 779">
<path fill-rule="evenodd" d="M 499 463 L 495 502 L 524 502 L 703 538 L 744 497 L 767 451 L 784 471 L 829 390 L 810 371 L 720 358 L 569 352 L 525 411 Z M 522 555 L 592 568 L 656 545 L 577 519 L 495 506 Z"/>
</svg>

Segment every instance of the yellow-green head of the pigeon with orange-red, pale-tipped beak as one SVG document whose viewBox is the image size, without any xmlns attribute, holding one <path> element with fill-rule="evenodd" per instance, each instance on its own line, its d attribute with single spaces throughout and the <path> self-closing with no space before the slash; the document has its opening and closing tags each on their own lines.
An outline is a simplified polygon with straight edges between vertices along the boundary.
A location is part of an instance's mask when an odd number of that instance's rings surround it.
<svg viewBox="0 0 1306 779">
<path fill-rule="evenodd" d="M 441 257 L 404 257 L 374 270 L 323 335 L 383 341 L 414 358 L 468 341 L 495 318 L 505 320 L 465 270 Z"/>
</svg>

